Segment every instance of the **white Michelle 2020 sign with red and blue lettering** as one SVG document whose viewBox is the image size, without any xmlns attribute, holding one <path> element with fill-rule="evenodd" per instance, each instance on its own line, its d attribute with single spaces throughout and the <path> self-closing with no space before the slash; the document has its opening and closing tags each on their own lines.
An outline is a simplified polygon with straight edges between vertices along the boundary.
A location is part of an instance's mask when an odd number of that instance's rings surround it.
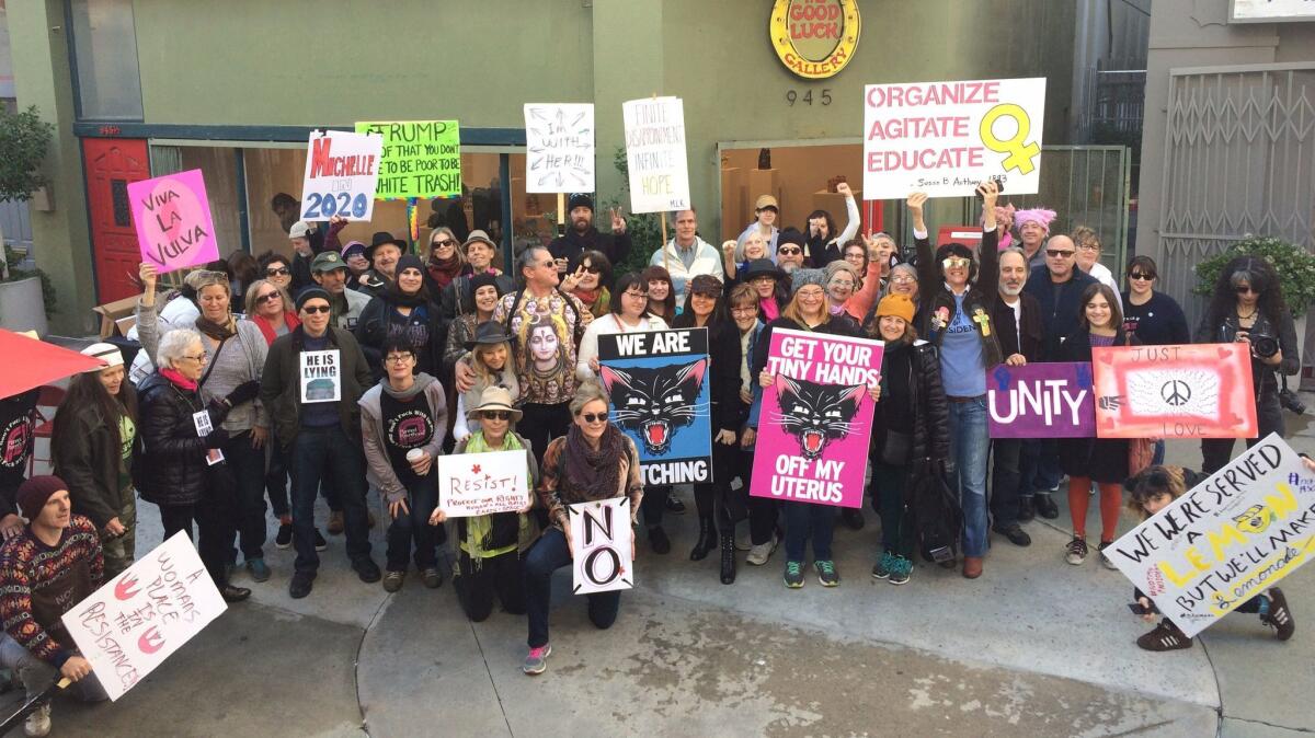
<svg viewBox="0 0 1315 738">
<path fill-rule="evenodd" d="M 368 221 L 375 213 L 383 139 L 348 131 L 310 131 L 306 175 L 301 184 L 301 219 L 341 215 Z"/>
</svg>

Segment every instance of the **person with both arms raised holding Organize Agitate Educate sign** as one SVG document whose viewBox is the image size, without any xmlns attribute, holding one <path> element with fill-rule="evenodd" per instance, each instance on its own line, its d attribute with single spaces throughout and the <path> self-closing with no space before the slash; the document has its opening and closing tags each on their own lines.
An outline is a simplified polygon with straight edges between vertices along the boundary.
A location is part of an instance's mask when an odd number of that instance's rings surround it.
<svg viewBox="0 0 1315 738">
<path fill-rule="evenodd" d="M 998 365 L 997 331 L 992 307 L 999 299 L 999 248 L 995 246 L 993 180 L 977 186 L 982 198 L 982 240 L 977 263 L 961 243 L 940 247 L 935 255 L 923 219 L 926 193 L 909 196 L 909 213 L 918 252 L 918 334 L 940 353 L 940 378 L 949 399 L 949 487 L 964 511 L 964 576 L 981 576 L 986 557 L 986 369 Z M 953 566 L 953 562 L 943 562 Z"/>
</svg>

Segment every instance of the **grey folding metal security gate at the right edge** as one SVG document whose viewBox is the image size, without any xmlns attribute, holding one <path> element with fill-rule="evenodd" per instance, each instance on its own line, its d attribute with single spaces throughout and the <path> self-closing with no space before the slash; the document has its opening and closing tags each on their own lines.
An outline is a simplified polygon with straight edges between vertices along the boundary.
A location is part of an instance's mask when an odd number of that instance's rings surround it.
<svg viewBox="0 0 1315 738">
<path fill-rule="evenodd" d="M 1315 248 L 1315 64 L 1169 72 L 1159 288 L 1195 326 L 1194 267 L 1248 234 Z"/>
</svg>

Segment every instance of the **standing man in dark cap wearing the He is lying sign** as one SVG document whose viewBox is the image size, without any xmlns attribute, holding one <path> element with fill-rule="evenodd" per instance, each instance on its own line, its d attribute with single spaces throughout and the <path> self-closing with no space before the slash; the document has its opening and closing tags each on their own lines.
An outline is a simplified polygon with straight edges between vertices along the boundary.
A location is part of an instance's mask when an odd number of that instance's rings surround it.
<svg viewBox="0 0 1315 738">
<path fill-rule="evenodd" d="M 422 284 L 421 278 L 416 281 Z M 260 403 L 270 412 L 274 437 L 293 470 L 292 541 L 297 558 L 288 584 L 293 599 L 310 594 L 320 569 L 314 512 L 320 483 L 325 479 L 333 481 L 342 504 L 352 569 L 366 583 L 379 582 L 381 576 L 379 565 L 370 558 L 366 457 L 356 404 L 373 382 L 360 344 L 351 331 L 330 324 L 330 310 L 329 293 L 323 289 L 308 288 L 297 294 L 301 324 L 274 340 L 260 376 Z M 330 353 L 305 356 L 309 352 Z M 321 376 L 302 389 L 302 368 L 312 362 Z"/>
</svg>

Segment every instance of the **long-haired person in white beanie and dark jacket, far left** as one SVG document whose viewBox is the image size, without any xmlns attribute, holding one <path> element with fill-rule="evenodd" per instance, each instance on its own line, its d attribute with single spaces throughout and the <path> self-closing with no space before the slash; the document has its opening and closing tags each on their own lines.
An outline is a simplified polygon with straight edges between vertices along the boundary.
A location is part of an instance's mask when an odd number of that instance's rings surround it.
<svg viewBox="0 0 1315 738">
<path fill-rule="evenodd" d="M 68 482 L 74 512 L 100 532 L 105 578 L 112 579 L 133 563 L 137 548 L 133 467 L 142 453 L 137 390 L 125 378 L 118 347 L 95 343 L 82 353 L 105 366 L 70 380 L 55 411 L 50 452 L 55 474 Z"/>
</svg>

